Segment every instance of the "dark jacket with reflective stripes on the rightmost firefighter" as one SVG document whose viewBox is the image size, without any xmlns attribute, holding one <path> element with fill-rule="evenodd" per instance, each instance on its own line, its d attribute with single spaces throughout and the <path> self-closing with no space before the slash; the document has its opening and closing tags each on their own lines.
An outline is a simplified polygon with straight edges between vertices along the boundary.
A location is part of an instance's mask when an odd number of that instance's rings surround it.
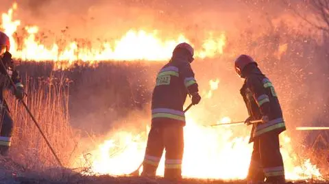
<svg viewBox="0 0 329 184">
<path fill-rule="evenodd" d="M 265 133 L 281 133 L 286 130 L 282 109 L 271 81 L 258 68 L 247 75 L 241 88 L 241 95 L 252 120 L 268 116 L 269 122 L 254 124 L 250 142 Z"/>
</svg>

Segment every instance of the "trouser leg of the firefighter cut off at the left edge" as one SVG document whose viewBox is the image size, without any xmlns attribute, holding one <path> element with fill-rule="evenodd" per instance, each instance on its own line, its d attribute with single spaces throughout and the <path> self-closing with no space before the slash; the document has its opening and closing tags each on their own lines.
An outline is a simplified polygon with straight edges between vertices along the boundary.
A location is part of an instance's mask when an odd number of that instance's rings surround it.
<svg viewBox="0 0 329 184">
<path fill-rule="evenodd" d="M 0 116 L 3 120 L 0 132 L 0 154 L 5 156 L 8 155 L 14 122 L 6 110 Z"/>
</svg>

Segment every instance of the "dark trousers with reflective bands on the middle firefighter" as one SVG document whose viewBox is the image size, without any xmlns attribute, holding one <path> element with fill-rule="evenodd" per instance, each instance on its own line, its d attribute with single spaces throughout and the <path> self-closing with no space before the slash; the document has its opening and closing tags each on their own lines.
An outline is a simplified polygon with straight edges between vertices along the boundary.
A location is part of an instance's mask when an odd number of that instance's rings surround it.
<svg viewBox="0 0 329 184">
<path fill-rule="evenodd" d="M 156 176 L 156 170 L 164 149 L 166 150 L 164 178 L 173 180 L 182 178 L 184 132 L 182 126 L 173 124 L 151 127 L 143 161 L 142 176 Z"/>
</svg>

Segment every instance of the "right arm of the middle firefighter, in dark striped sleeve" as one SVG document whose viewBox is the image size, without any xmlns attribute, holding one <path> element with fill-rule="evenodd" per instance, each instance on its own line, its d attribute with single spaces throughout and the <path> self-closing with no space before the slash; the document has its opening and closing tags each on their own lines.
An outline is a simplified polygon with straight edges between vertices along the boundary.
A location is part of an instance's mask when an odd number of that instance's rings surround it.
<svg viewBox="0 0 329 184">
<path fill-rule="evenodd" d="M 201 96 L 199 95 L 199 86 L 197 84 L 197 80 L 195 79 L 191 64 L 182 64 L 180 66 L 180 74 L 182 75 L 182 79 L 184 80 L 184 85 L 188 91 L 188 94 L 192 95 L 192 103 L 199 103 L 199 101 L 201 101 Z"/>
</svg>

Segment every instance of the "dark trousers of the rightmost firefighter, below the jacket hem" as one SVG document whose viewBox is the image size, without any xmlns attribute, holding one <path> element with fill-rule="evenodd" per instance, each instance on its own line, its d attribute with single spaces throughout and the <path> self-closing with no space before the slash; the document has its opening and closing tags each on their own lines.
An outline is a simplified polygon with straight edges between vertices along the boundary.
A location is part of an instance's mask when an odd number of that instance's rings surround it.
<svg viewBox="0 0 329 184">
<path fill-rule="evenodd" d="M 278 133 L 265 133 L 254 140 L 248 183 L 285 183 Z"/>
</svg>

